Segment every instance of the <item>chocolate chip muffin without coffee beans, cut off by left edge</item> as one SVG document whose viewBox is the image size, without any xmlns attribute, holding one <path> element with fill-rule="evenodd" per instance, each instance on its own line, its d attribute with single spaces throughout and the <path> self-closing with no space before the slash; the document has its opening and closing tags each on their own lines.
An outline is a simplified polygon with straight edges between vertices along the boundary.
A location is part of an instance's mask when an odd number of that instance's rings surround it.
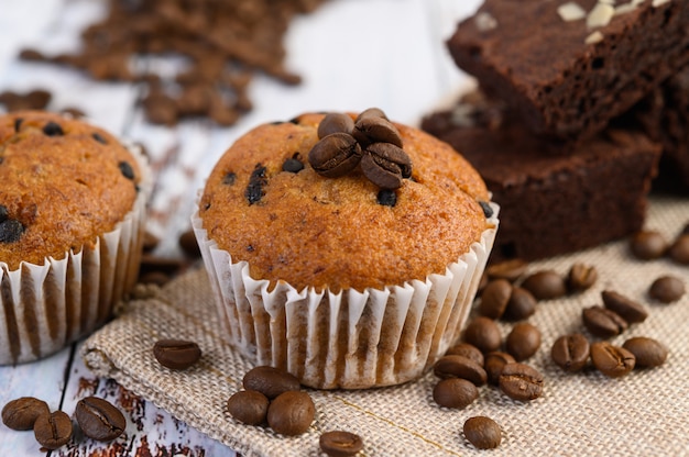
<svg viewBox="0 0 689 457">
<path fill-rule="evenodd" d="M 51 354 L 92 331 L 135 281 L 142 157 L 86 122 L 0 116 L 0 363 Z"/>
</svg>

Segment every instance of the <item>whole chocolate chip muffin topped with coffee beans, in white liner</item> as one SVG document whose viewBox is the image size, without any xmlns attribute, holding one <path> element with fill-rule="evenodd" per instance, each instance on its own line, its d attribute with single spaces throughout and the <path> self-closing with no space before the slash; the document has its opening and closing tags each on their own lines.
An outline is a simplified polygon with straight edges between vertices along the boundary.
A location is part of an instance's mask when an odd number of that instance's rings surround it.
<svg viewBox="0 0 689 457">
<path fill-rule="evenodd" d="M 380 110 L 261 125 L 193 223 L 230 341 L 316 388 L 420 376 L 459 336 L 497 227 L 478 172 Z"/>
</svg>

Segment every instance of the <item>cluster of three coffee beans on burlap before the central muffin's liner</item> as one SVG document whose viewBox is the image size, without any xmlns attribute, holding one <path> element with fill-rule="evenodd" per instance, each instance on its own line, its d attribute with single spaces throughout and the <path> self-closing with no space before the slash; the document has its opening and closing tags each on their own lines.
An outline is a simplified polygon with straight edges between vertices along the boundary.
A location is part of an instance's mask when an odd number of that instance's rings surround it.
<svg viewBox="0 0 689 457">
<path fill-rule="evenodd" d="M 316 406 L 300 390 L 299 380 L 287 371 L 259 366 L 247 371 L 244 390 L 227 402 L 230 415 L 248 425 L 267 424 L 275 433 L 294 436 L 305 433 L 314 422 Z"/>
</svg>

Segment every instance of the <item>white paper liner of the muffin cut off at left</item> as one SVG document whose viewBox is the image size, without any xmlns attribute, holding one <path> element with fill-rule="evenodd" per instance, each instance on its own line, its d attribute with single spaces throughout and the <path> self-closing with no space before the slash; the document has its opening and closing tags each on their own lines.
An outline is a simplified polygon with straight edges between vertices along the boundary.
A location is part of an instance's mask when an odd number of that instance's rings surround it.
<svg viewBox="0 0 689 457">
<path fill-rule="evenodd" d="M 10 270 L 0 261 L 0 365 L 40 359 L 89 334 L 135 283 L 151 177 L 140 148 L 128 148 L 142 179 L 134 207 L 111 232 L 43 265 Z"/>
</svg>

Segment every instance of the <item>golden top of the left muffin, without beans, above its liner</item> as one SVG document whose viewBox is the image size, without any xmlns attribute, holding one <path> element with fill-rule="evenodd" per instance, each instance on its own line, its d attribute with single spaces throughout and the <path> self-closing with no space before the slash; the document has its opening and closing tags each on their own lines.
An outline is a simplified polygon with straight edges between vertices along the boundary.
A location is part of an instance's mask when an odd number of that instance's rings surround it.
<svg viewBox="0 0 689 457">
<path fill-rule="evenodd" d="M 14 270 L 92 247 L 133 209 L 140 179 L 101 129 L 47 112 L 0 115 L 0 261 Z"/>
</svg>

